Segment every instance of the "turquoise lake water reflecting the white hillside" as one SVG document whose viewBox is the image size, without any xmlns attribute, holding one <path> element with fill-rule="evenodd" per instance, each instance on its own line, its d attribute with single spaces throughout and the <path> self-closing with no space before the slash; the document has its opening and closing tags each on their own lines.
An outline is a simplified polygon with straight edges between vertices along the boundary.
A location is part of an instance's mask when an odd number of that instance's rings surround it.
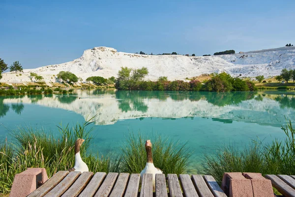
<svg viewBox="0 0 295 197">
<path fill-rule="evenodd" d="M 79 99 L 81 98 L 81 99 Z M 73 94 L 0 97 L 0 139 L 18 126 L 56 132 L 59 123 L 83 123 L 97 115 L 91 149 L 118 151 L 130 132 L 162 134 L 188 142 L 191 168 L 223 144 L 282 139 L 281 125 L 295 122 L 295 92 L 161 92 L 74 90 Z M 295 123 L 294 123 L 295 124 Z"/>
</svg>

